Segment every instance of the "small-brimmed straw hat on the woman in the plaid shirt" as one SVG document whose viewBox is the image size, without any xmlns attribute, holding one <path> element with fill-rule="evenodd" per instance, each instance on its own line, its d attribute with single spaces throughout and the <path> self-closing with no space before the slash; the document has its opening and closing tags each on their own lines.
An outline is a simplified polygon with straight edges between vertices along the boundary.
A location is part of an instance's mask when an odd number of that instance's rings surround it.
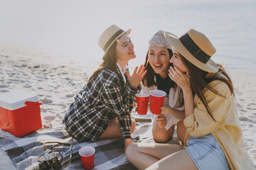
<svg viewBox="0 0 256 170">
<path fill-rule="evenodd" d="M 124 31 L 118 26 L 113 24 L 112 26 L 107 28 L 102 33 L 102 35 L 100 35 L 100 38 L 98 40 L 98 45 L 105 52 L 105 55 L 107 53 L 107 50 L 109 50 L 111 45 L 114 43 L 114 41 L 120 38 L 124 33 L 127 33 L 127 35 L 129 35 L 129 33 L 131 33 L 131 29 Z M 102 57 L 102 59 L 105 57 L 105 55 Z"/>
</svg>

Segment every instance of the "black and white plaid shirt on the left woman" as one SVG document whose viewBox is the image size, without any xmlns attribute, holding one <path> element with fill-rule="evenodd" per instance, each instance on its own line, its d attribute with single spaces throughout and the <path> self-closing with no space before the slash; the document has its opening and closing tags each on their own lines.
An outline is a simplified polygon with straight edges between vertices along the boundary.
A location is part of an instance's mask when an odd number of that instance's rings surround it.
<svg viewBox="0 0 256 170">
<path fill-rule="evenodd" d="M 127 77 L 125 76 L 127 79 Z M 65 113 L 68 133 L 80 142 L 94 141 L 107 129 L 113 116 L 119 121 L 122 136 L 131 138 L 131 111 L 134 95 L 129 81 L 124 84 L 117 65 L 93 77 L 76 96 Z"/>
</svg>

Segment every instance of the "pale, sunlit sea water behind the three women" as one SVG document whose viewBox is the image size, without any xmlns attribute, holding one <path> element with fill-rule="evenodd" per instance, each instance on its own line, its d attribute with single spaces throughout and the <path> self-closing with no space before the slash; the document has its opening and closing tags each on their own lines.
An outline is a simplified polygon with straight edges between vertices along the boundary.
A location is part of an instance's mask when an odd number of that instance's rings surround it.
<svg viewBox="0 0 256 170">
<path fill-rule="evenodd" d="M 0 43 L 23 45 L 95 67 L 103 51 L 101 33 L 112 24 L 127 30 L 142 64 L 148 41 L 158 30 L 178 36 L 201 31 L 217 49 L 215 62 L 240 72 L 256 72 L 255 0 L 0 0 Z M 34 57 L 40 57 L 35 55 Z"/>
</svg>

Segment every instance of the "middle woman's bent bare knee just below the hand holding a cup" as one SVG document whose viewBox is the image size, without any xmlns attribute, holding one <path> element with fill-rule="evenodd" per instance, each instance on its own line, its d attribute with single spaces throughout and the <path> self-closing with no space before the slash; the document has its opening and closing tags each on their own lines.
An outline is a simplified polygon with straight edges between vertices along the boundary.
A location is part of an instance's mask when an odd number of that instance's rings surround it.
<svg viewBox="0 0 256 170">
<path fill-rule="evenodd" d="M 152 134 L 154 137 L 154 140 L 159 143 L 165 143 L 168 140 L 171 139 L 174 135 L 174 125 L 169 128 L 169 130 L 166 130 L 165 128 L 159 128 L 159 125 L 157 124 L 157 121 L 153 119 L 152 123 Z"/>
</svg>

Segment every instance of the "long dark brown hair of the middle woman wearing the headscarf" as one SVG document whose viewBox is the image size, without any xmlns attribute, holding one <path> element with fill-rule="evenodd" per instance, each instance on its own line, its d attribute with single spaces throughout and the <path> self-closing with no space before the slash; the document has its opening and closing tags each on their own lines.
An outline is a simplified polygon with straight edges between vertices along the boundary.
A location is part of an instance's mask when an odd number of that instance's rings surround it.
<svg viewBox="0 0 256 170">
<path fill-rule="evenodd" d="M 167 48 L 167 50 L 169 52 L 169 56 L 170 56 L 169 60 L 170 60 L 172 55 L 173 55 L 173 52 L 169 48 Z M 154 72 L 154 69 L 151 67 L 151 65 L 149 63 L 149 50 L 146 53 L 146 60 L 144 62 L 144 67 L 147 70 L 147 72 L 146 72 L 144 78 L 142 79 L 142 84 L 146 87 L 157 86 L 156 81 L 154 81 L 154 77 L 156 76 L 156 73 Z M 168 74 L 167 74 L 167 76 L 168 76 Z M 172 81 L 170 78 L 166 82 L 166 89 L 168 89 L 168 90 L 171 89 L 171 88 L 174 88 L 174 91 L 176 91 L 177 86 L 178 85 L 174 81 Z M 177 102 L 174 106 L 175 108 L 179 108 L 179 107 L 184 105 L 183 91 L 182 90 L 178 91 L 178 96 L 179 96 L 178 100 L 177 100 Z"/>
</svg>

